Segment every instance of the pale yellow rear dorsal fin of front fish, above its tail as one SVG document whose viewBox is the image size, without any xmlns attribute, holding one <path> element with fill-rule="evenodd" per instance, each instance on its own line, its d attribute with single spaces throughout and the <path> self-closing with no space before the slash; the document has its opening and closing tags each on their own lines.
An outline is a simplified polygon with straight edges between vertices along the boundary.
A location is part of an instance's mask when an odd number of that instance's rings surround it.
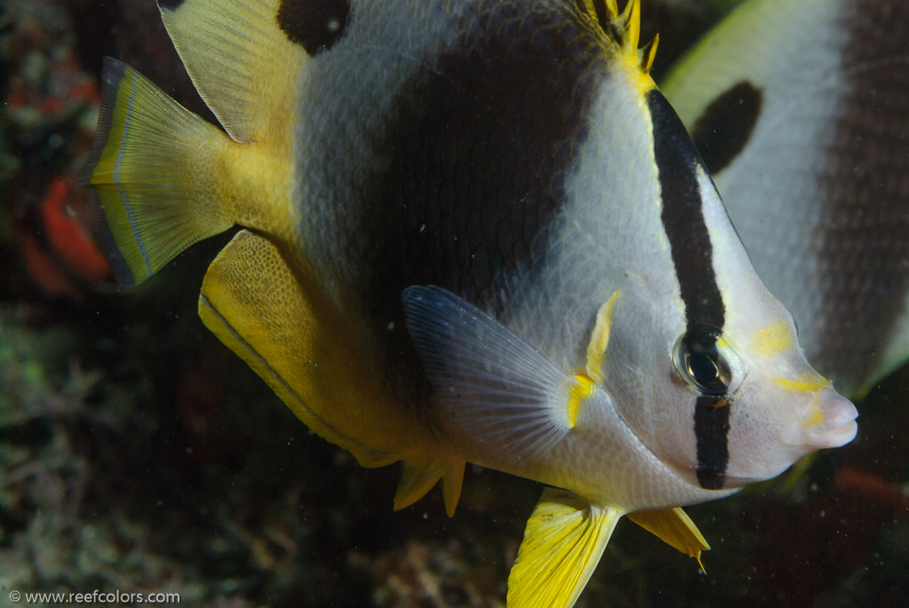
<svg viewBox="0 0 909 608">
<path fill-rule="evenodd" d="M 161 18 L 186 72 L 237 142 L 291 151 L 297 75 L 308 55 L 281 30 L 280 0 L 183 0 Z"/>
</svg>

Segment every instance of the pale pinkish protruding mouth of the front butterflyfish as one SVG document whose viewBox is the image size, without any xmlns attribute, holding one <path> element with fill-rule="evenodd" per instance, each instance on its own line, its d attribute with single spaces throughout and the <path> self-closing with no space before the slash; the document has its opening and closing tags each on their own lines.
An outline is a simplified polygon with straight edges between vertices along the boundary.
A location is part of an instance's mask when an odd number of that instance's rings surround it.
<svg viewBox="0 0 909 608">
<path fill-rule="evenodd" d="M 858 410 L 852 401 L 831 387 L 817 391 L 809 413 L 802 421 L 784 432 L 784 444 L 808 449 L 844 446 L 858 432 Z"/>
</svg>

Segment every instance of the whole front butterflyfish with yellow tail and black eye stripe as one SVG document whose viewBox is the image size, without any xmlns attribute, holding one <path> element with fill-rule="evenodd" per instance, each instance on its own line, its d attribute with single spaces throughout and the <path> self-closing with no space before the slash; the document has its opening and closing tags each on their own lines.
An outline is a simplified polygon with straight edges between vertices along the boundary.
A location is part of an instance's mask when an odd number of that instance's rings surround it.
<svg viewBox="0 0 909 608">
<path fill-rule="evenodd" d="M 640 1 L 159 0 L 220 128 L 105 61 L 94 186 L 125 285 L 239 226 L 199 314 L 315 433 L 546 485 L 512 606 L 569 606 L 623 515 L 700 560 L 681 507 L 842 446 L 811 368 L 640 44 Z"/>
</svg>

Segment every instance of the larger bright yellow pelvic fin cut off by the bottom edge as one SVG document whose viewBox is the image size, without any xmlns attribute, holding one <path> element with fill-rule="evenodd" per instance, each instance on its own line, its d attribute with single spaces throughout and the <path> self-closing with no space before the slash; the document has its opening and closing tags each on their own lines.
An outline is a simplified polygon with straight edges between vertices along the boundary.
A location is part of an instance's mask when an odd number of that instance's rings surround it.
<svg viewBox="0 0 909 608">
<path fill-rule="evenodd" d="M 527 520 L 524 541 L 508 576 L 508 605 L 573 605 L 622 515 L 611 507 L 590 505 L 566 490 L 544 489 Z"/>
</svg>

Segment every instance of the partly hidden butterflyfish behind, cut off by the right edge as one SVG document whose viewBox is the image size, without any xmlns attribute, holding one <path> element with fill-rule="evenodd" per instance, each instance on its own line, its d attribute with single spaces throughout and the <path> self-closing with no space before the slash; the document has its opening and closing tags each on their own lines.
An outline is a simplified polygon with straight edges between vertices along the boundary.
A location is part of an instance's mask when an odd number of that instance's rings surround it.
<svg viewBox="0 0 909 608">
<path fill-rule="evenodd" d="M 849 397 L 909 359 L 909 5 L 751 0 L 662 83 L 805 355 Z"/>
</svg>

